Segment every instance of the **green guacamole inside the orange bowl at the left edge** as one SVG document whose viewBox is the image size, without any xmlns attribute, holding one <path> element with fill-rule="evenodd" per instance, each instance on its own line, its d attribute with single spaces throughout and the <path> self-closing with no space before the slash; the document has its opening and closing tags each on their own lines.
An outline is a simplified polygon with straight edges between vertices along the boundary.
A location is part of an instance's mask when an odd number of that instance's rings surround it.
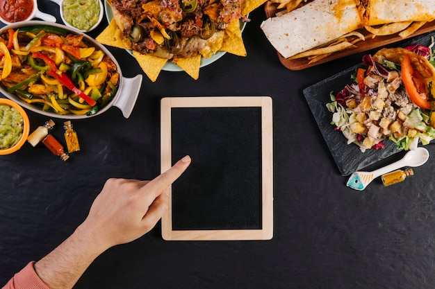
<svg viewBox="0 0 435 289">
<path fill-rule="evenodd" d="M 9 105 L 0 105 L 0 149 L 10 148 L 23 135 L 23 117 Z"/>
</svg>

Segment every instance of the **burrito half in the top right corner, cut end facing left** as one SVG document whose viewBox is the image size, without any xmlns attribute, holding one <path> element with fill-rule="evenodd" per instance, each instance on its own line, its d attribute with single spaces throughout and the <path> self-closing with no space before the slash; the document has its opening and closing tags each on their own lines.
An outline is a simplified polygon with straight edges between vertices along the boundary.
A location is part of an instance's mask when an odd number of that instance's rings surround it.
<svg viewBox="0 0 435 289">
<path fill-rule="evenodd" d="M 434 0 L 354 0 L 363 26 L 435 19 Z"/>
</svg>

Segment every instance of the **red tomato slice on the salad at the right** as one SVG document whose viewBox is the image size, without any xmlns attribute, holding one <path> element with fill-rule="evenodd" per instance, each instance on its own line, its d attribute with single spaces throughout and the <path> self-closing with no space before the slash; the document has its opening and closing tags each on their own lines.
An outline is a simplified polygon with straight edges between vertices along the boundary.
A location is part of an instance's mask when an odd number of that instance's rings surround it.
<svg viewBox="0 0 435 289">
<path fill-rule="evenodd" d="M 421 73 L 413 69 L 409 55 L 404 55 L 402 60 L 402 80 L 411 101 L 418 107 L 430 110 L 429 91 L 425 79 Z"/>
</svg>

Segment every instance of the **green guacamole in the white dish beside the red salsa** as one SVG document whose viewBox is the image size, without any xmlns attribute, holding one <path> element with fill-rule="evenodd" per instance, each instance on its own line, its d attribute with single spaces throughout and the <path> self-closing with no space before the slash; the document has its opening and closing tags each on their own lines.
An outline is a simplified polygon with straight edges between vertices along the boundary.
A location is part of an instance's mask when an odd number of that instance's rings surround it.
<svg viewBox="0 0 435 289">
<path fill-rule="evenodd" d="M 99 0 L 64 0 L 63 19 L 68 24 L 88 31 L 99 19 Z"/>
</svg>

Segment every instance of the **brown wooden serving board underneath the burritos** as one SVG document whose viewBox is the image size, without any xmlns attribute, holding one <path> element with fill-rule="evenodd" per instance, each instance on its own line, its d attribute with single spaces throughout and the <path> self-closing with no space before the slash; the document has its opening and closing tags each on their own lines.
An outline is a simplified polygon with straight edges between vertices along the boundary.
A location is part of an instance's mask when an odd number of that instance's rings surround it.
<svg viewBox="0 0 435 289">
<path fill-rule="evenodd" d="M 265 10 L 265 14 L 267 17 L 274 17 L 275 13 L 278 12 L 279 10 L 277 9 L 278 7 L 278 3 L 272 3 L 271 1 L 267 1 L 264 4 L 264 10 Z M 366 40 L 361 41 L 361 42 L 357 42 L 356 48 L 354 49 L 345 49 L 343 51 L 338 51 L 336 53 L 333 53 L 329 56 L 327 56 L 326 58 L 323 58 L 322 60 L 319 60 L 318 62 L 314 62 L 314 63 L 309 63 L 309 60 L 307 58 L 300 58 L 300 59 L 295 59 L 295 60 L 289 60 L 287 58 L 284 58 L 284 56 L 282 56 L 279 52 L 278 53 L 278 58 L 279 61 L 281 62 L 281 64 L 284 65 L 284 67 L 290 69 L 290 70 L 302 70 L 302 69 L 306 69 L 309 67 L 314 67 L 316 65 L 325 63 L 325 62 L 329 62 L 331 60 L 336 60 L 338 58 L 343 58 L 345 56 L 348 55 L 353 55 L 356 53 L 360 53 L 363 51 L 369 51 L 371 49 L 376 49 L 378 47 L 381 46 L 386 46 L 389 44 L 394 44 L 396 42 L 400 42 L 402 40 L 411 38 L 411 37 L 415 37 L 417 35 L 422 35 L 431 31 L 435 30 L 435 21 L 429 22 L 427 24 L 425 24 L 424 26 L 422 26 L 420 29 L 418 29 L 415 33 L 409 35 L 409 37 L 407 38 L 402 38 L 398 35 L 398 33 L 392 34 L 392 35 L 385 35 L 385 36 L 377 36 L 375 38 L 371 38 L 368 37 L 366 38 Z M 362 33 L 363 35 L 368 35 L 370 33 L 368 33 L 367 30 L 365 29 L 361 29 L 359 30 L 360 33 Z"/>
</svg>

